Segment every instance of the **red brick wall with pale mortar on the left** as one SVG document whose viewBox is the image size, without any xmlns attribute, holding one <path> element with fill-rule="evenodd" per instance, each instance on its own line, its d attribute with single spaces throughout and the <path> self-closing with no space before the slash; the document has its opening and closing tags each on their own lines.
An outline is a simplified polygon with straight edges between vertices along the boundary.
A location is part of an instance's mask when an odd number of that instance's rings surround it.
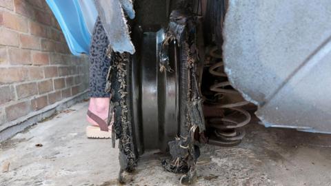
<svg viewBox="0 0 331 186">
<path fill-rule="evenodd" d="M 0 0 L 0 125 L 87 88 L 87 57 L 70 54 L 46 2 Z"/>
</svg>

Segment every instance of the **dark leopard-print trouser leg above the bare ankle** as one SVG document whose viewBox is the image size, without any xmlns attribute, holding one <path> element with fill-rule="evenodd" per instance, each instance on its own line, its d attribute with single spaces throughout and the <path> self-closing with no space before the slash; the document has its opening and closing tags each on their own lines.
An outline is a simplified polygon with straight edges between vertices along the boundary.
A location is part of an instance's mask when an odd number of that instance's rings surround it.
<svg viewBox="0 0 331 186">
<path fill-rule="evenodd" d="M 105 92 L 106 76 L 110 68 L 110 59 L 106 56 L 108 39 L 100 18 L 94 25 L 90 46 L 90 97 L 109 97 Z"/>
</svg>

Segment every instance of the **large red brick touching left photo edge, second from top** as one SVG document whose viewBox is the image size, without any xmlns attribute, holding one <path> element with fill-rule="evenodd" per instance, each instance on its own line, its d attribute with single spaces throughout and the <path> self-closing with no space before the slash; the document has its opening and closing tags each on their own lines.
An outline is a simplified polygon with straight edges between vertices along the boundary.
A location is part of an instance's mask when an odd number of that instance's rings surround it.
<svg viewBox="0 0 331 186">
<path fill-rule="evenodd" d="M 28 32 L 28 21 L 16 14 L 10 14 L 9 12 L 2 12 L 2 24 L 13 30 L 20 32 Z"/>
</svg>

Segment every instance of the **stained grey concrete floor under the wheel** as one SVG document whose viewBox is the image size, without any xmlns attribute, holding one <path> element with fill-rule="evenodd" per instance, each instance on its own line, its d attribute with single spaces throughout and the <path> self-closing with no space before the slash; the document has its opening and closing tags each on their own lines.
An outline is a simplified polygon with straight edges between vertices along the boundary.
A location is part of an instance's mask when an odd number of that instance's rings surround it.
<svg viewBox="0 0 331 186">
<path fill-rule="evenodd" d="M 117 185 L 118 149 L 110 140 L 86 138 L 87 105 L 74 105 L 2 143 L 0 185 Z M 254 122 L 239 146 L 202 148 L 195 185 L 331 185 L 331 135 Z M 163 157 L 141 157 L 129 185 L 178 185 L 181 175 L 164 172 Z"/>
</svg>

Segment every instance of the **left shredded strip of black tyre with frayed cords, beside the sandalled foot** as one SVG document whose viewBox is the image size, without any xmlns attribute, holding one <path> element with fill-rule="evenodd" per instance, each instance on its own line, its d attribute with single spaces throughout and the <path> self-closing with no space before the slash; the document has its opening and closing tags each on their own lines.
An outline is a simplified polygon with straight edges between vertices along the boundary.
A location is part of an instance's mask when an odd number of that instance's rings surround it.
<svg viewBox="0 0 331 186">
<path fill-rule="evenodd" d="M 110 56 L 110 55 L 109 55 Z M 114 112 L 114 125 L 112 145 L 115 138 L 119 139 L 119 182 L 123 183 L 123 172 L 132 172 L 137 166 L 137 156 L 134 154 L 134 143 L 132 140 L 132 126 L 128 112 L 128 81 L 127 67 L 130 63 L 130 54 L 124 52 L 112 52 L 111 69 L 108 73 L 108 91 L 112 93 L 110 110 Z"/>
</svg>

